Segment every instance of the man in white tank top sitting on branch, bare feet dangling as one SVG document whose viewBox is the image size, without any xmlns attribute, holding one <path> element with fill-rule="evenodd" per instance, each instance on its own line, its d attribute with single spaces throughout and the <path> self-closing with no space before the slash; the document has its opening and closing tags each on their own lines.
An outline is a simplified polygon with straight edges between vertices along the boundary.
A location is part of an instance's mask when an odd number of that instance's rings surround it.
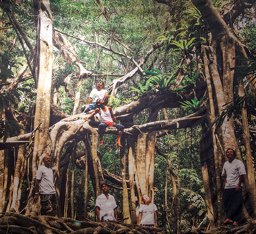
<svg viewBox="0 0 256 234">
<path fill-rule="evenodd" d="M 97 113 L 100 114 L 100 124 L 98 126 L 99 133 L 100 133 L 100 146 L 103 145 L 103 132 L 105 132 L 107 127 L 116 127 L 118 130 L 118 137 L 116 144 L 120 147 L 121 145 L 121 137 L 124 131 L 124 126 L 121 124 L 118 124 L 118 121 L 116 117 L 114 116 L 113 110 L 111 106 L 105 106 L 104 100 L 98 99 L 97 100 L 97 108 L 94 110 L 94 112 L 87 118 L 87 121 Z M 114 124 L 113 120 L 116 124 Z"/>
</svg>

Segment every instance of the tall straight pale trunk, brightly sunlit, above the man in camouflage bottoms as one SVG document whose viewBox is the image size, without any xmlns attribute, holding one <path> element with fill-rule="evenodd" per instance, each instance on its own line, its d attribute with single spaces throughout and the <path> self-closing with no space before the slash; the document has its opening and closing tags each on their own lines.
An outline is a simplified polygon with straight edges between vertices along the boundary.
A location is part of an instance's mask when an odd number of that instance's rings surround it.
<svg viewBox="0 0 256 234">
<path fill-rule="evenodd" d="M 34 127 L 40 125 L 40 131 L 35 132 L 32 173 L 36 175 L 37 160 L 42 160 L 46 154 L 44 148 L 48 142 L 51 109 L 51 84 L 52 84 L 52 15 L 49 0 L 38 1 L 38 26 L 39 34 L 39 67 L 36 114 Z M 49 153 L 49 152 L 48 152 Z"/>
</svg>

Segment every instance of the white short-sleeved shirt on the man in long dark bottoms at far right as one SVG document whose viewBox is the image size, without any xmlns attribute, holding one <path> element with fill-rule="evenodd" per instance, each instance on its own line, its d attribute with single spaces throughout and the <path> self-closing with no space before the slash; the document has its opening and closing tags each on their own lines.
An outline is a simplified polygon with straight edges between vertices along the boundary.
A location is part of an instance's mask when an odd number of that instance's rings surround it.
<svg viewBox="0 0 256 234">
<path fill-rule="evenodd" d="M 236 188 L 239 182 L 239 176 L 241 175 L 246 175 L 243 162 L 236 158 L 232 162 L 226 161 L 221 173 L 221 176 L 226 177 L 227 180 L 225 189 Z"/>
</svg>

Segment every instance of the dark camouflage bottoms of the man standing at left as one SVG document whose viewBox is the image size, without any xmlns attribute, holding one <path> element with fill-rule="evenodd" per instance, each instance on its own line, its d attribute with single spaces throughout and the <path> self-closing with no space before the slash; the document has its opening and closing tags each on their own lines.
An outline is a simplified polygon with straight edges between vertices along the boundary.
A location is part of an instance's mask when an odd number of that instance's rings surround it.
<svg viewBox="0 0 256 234">
<path fill-rule="evenodd" d="M 40 194 L 41 215 L 56 215 L 56 194 Z"/>
</svg>

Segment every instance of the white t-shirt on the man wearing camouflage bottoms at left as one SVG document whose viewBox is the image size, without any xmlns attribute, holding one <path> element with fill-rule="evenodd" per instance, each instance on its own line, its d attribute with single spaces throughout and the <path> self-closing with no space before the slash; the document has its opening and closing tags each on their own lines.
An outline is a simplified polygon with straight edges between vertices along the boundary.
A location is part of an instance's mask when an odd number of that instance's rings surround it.
<svg viewBox="0 0 256 234">
<path fill-rule="evenodd" d="M 55 194 L 55 186 L 53 183 L 53 171 L 51 168 L 41 166 L 36 172 L 36 179 L 39 182 L 39 193 L 40 194 Z"/>
</svg>

